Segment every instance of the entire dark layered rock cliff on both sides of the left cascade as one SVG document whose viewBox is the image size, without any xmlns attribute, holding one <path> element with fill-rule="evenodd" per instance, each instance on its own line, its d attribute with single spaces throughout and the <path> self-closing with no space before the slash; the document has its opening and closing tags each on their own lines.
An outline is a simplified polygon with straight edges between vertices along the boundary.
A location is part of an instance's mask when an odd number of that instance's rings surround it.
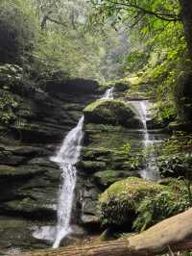
<svg viewBox="0 0 192 256">
<path fill-rule="evenodd" d="M 17 102 L 12 121 L 0 127 L 2 249 L 51 245 L 45 238 L 32 236 L 41 227 L 51 236 L 50 227 L 57 221 L 61 173 L 50 156 L 83 113 L 84 142 L 77 163 L 72 224 L 88 232 L 100 229 L 99 194 L 116 181 L 139 177 L 146 164 L 143 124 L 132 106 L 122 100 L 124 90 L 127 93 L 129 89 L 115 87 L 115 100 L 100 101 L 96 100 L 102 93 L 98 84 L 82 79 L 52 80 L 40 89 L 17 84 L 1 88 L 1 93 L 13 95 Z M 153 128 L 153 122 L 150 126 Z M 74 232 L 81 238 L 84 234 L 77 226 Z"/>
</svg>

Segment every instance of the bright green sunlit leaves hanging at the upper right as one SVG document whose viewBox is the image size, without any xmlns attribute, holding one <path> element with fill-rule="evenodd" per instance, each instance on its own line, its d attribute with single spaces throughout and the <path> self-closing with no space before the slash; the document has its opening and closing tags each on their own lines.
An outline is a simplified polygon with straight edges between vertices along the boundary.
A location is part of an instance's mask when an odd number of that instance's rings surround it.
<svg viewBox="0 0 192 256">
<path fill-rule="evenodd" d="M 179 1 L 93 2 L 97 20 L 107 18 L 117 27 L 131 26 L 130 47 L 121 60 L 124 73 L 141 75 L 138 88 L 156 98 L 159 121 L 168 123 L 176 119 L 181 103 L 177 104 L 180 96 L 175 91 L 183 61 L 187 59 Z M 170 22 L 174 19 L 178 21 Z"/>
</svg>

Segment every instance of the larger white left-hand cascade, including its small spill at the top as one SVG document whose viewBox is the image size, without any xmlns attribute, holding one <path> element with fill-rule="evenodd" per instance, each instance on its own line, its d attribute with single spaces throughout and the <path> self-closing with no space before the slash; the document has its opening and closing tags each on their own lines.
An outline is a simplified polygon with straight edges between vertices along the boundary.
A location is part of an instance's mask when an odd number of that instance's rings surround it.
<svg viewBox="0 0 192 256">
<path fill-rule="evenodd" d="M 108 89 L 101 100 L 112 99 L 113 88 Z M 77 169 L 76 163 L 81 153 L 81 141 L 84 137 L 84 115 L 78 125 L 72 129 L 63 140 L 57 155 L 51 158 L 62 169 L 62 185 L 58 202 L 58 224 L 54 248 L 60 246 L 61 240 L 71 232 L 70 219 L 73 206 L 74 189 L 76 186 Z"/>
</svg>

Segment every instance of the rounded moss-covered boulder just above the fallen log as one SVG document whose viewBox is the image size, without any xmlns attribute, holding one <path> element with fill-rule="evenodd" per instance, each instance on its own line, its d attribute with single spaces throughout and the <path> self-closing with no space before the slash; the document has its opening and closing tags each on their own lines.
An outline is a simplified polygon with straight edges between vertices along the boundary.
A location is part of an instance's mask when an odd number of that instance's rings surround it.
<svg viewBox="0 0 192 256">
<path fill-rule="evenodd" d="M 125 223 L 132 225 L 139 203 L 146 196 L 154 196 L 164 190 L 166 187 L 163 185 L 135 177 L 115 182 L 100 195 L 99 218 L 109 226 Z"/>
</svg>

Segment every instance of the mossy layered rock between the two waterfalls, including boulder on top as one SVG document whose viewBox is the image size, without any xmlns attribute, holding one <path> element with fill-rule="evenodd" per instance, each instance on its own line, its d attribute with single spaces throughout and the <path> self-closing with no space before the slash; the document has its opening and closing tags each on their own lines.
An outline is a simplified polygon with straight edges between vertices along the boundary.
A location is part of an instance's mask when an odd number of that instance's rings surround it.
<svg viewBox="0 0 192 256">
<path fill-rule="evenodd" d="M 128 93 L 129 89 L 117 89 L 114 90 L 114 100 L 97 100 L 84 109 L 84 144 L 81 161 L 77 164 L 75 210 L 78 223 L 88 230 L 100 227 L 97 215 L 99 194 L 114 182 L 140 177 L 146 167 L 143 124 L 132 104 L 122 100 L 125 99 L 124 90 Z M 155 141 L 166 138 L 153 119 L 148 122 L 149 138 Z"/>
</svg>

